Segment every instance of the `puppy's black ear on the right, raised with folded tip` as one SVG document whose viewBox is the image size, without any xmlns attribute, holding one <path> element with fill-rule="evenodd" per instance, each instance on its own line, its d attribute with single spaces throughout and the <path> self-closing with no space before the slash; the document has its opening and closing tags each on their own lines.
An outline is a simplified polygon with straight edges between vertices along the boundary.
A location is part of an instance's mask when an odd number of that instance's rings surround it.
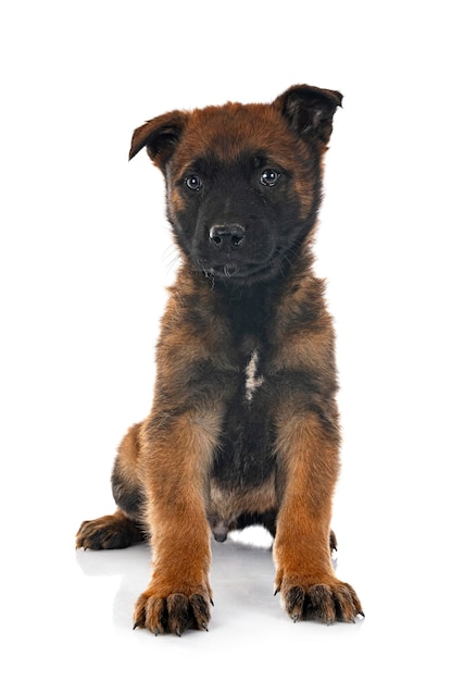
<svg viewBox="0 0 464 681">
<path fill-rule="evenodd" d="M 291 128 L 308 140 L 326 145 L 331 135 L 331 122 L 342 95 L 310 85 L 293 85 L 274 101 L 274 106 Z"/>
</svg>

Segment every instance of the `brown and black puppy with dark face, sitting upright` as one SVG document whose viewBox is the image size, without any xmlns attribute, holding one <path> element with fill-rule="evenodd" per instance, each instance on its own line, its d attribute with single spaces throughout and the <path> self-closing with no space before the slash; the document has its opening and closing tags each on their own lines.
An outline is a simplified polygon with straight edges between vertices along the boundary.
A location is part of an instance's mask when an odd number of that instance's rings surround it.
<svg viewBox="0 0 464 681">
<path fill-rule="evenodd" d="M 306 85 L 271 104 L 173 111 L 137 128 L 166 181 L 181 264 L 158 343 L 150 416 L 123 439 L 118 509 L 77 546 L 148 536 L 153 574 L 135 627 L 206 629 L 210 536 L 261 523 L 293 620 L 353 621 L 334 573 L 339 468 L 334 331 L 312 272 L 323 158 L 341 95 Z"/>
</svg>

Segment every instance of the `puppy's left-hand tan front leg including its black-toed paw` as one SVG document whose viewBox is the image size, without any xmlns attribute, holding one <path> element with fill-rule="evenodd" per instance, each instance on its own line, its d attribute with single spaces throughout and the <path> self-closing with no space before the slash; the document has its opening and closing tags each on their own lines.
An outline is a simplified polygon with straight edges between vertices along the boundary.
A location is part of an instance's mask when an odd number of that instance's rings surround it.
<svg viewBox="0 0 464 681">
<path fill-rule="evenodd" d="M 217 432 L 217 418 L 198 412 L 155 413 L 145 426 L 142 467 L 153 573 L 134 619 L 135 627 L 154 634 L 208 628 L 212 593 L 205 496 Z"/>
</svg>

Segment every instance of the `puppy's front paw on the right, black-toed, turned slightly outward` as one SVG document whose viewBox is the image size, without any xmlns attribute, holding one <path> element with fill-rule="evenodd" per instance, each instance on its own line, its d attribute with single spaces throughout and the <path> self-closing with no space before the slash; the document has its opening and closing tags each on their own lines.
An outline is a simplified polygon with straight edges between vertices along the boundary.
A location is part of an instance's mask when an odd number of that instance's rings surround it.
<svg viewBox="0 0 464 681">
<path fill-rule="evenodd" d="M 324 580 L 302 580 L 286 577 L 278 583 L 284 607 L 289 617 L 298 620 L 355 622 L 358 615 L 364 617 L 356 592 L 350 584 L 328 575 Z"/>
</svg>

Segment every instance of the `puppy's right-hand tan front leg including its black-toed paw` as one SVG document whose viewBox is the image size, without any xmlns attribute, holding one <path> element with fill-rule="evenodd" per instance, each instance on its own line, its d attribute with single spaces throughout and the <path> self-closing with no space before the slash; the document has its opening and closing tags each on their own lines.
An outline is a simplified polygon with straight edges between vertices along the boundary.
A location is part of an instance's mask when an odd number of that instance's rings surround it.
<svg viewBox="0 0 464 681">
<path fill-rule="evenodd" d="M 335 577 L 330 560 L 337 426 L 316 413 L 287 418 L 278 426 L 277 449 L 283 480 L 274 544 L 276 592 L 294 621 L 353 621 L 362 614 L 360 600 L 352 586 Z"/>
</svg>

